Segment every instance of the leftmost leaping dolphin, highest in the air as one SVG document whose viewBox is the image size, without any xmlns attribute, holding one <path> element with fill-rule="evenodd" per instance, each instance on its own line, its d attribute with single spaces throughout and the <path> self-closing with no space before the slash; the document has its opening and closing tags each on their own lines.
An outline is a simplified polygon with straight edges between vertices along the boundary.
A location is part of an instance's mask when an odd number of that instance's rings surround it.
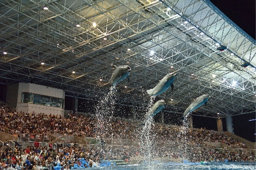
<svg viewBox="0 0 256 170">
<path fill-rule="evenodd" d="M 127 65 L 119 66 L 119 67 L 115 65 L 112 65 L 112 66 L 115 68 L 110 80 L 110 83 L 112 86 L 117 85 L 119 82 L 121 82 L 126 78 L 128 79 L 128 82 L 129 82 L 129 73 L 131 70 L 129 66 Z"/>
</svg>

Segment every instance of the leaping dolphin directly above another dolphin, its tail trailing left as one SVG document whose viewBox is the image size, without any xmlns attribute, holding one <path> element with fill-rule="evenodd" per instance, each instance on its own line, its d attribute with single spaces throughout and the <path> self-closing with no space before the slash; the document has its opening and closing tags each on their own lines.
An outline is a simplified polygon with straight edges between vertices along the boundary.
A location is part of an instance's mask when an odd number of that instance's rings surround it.
<svg viewBox="0 0 256 170">
<path fill-rule="evenodd" d="M 165 90 L 167 90 L 170 86 L 173 90 L 173 81 L 176 76 L 177 73 L 170 73 L 166 75 L 162 80 L 160 80 L 160 82 L 154 88 L 147 90 L 147 94 L 151 96 L 157 96 L 165 92 Z"/>
</svg>

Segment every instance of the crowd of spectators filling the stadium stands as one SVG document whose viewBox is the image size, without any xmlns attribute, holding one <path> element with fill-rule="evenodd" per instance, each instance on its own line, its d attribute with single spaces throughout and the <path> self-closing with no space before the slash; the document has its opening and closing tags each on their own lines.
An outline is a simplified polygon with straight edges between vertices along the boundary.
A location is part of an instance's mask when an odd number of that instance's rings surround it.
<svg viewBox="0 0 256 170">
<path fill-rule="evenodd" d="M 18 113 L 10 107 L 0 107 L 0 130 L 22 137 L 23 134 L 31 134 L 35 138 L 44 138 L 48 134 L 75 135 L 101 138 L 129 139 L 133 143 L 139 143 L 140 128 L 137 128 L 140 122 L 127 121 L 122 119 L 98 120 L 93 116 L 83 116 L 77 114 L 68 114 L 64 118 L 61 115 L 45 115 L 43 113 Z M 82 125 L 82 126 L 81 126 Z M 207 131 L 205 129 L 191 129 L 181 126 L 167 126 L 163 124 L 154 124 L 151 132 L 155 137 L 154 157 L 165 157 L 178 159 L 188 157 L 191 162 L 200 161 L 256 161 L 254 153 L 227 152 L 218 151 L 214 148 L 202 147 L 206 142 L 222 142 L 227 146 L 239 145 L 246 148 L 244 142 L 239 142 L 233 138 Z M 186 140 L 185 140 L 186 139 Z M 174 142 L 173 145 L 166 147 L 166 143 Z M 182 141 L 182 142 L 178 142 Z M 187 151 L 183 152 L 182 143 L 186 143 Z M 163 147 L 164 146 L 164 147 Z M 3 147 L 3 146 L 2 146 Z M 29 152 L 28 152 L 29 151 Z M 78 146 L 65 146 L 57 150 L 50 148 L 33 148 L 26 150 L 16 148 L 12 153 L 9 150 L 0 152 L 1 169 L 12 167 L 17 170 L 38 169 L 42 167 L 54 167 L 57 163 L 63 166 L 64 170 L 71 169 L 75 165 L 92 167 L 100 166 L 102 160 L 106 159 L 136 159 L 140 158 L 142 153 L 139 147 L 115 149 L 85 149 Z M 81 159 L 86 164 L 81 165 Z M 79 160 L 80 159 L 80 160 Z M 8 165 L 8 166 L 6 166 Z M 15 166 L 14 166 L 15 165 Z"/>
</svg>

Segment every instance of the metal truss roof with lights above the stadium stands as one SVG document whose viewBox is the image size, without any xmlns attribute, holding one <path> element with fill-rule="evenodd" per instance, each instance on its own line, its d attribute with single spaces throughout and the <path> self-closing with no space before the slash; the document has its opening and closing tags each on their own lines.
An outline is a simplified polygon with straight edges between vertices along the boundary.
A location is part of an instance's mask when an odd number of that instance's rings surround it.
<svg viewBox="0 0 256 170">
<path fill-rule="evenodd" d="M 194 115 L 256 111 L 256 42 L 209 0 L 1 0 L 0 25 L 1 84 L 96 99 L 110 88 L 111 64 L 129 65 L 120 103 L 143 102 L 138 93 L 177 72 L 174 90 L 159 96 L 170 110 L 207 93 Z"/>
</svg>

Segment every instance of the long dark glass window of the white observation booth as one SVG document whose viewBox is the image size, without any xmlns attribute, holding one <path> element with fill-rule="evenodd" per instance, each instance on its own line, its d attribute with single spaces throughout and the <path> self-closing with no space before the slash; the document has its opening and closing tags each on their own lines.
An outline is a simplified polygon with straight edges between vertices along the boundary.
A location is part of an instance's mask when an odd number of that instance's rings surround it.
<svg viewBox="0 0 256 170">
<path fill-rule="evenodd" d="M 39 104 L 44 106 L 63 108 L 64 99 L 41 95 L 41 94 L 23 92 L 21 103 L 33 103 L 33 104 Z"/>
</svg>

